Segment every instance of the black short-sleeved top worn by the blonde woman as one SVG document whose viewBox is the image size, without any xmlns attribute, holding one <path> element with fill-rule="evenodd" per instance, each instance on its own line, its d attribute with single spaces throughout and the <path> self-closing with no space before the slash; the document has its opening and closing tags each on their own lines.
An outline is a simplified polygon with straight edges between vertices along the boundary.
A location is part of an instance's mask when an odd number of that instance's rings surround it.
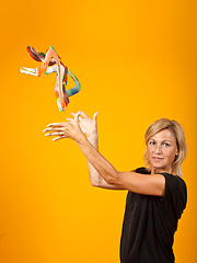
<svg viewBox="0 0 197 263">
<path fill-rule="evenodd" d="M 150 174 L 144 168 L 137 173 Z M 186 184 L 179 176 L 165 178 L 164 198 L 128 192 L 120 241 L 121 263 L 173 263 L 173 240 L 187 203 Z"/>
</svg>

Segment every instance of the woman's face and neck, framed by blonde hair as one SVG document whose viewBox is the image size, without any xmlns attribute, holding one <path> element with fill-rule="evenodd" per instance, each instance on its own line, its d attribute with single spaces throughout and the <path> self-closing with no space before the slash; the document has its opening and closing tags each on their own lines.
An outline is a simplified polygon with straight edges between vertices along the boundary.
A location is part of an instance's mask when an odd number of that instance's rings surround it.
<svg viewBox="0 0 197 263">
<path fill-rule="evenodd" d="M 170 129 L 153 135 L 147 145 L 147 155 L 151 163 L 151 173 L 172 172 L 172 163 L 178 156 L 176 139 Z"/>
</svg>

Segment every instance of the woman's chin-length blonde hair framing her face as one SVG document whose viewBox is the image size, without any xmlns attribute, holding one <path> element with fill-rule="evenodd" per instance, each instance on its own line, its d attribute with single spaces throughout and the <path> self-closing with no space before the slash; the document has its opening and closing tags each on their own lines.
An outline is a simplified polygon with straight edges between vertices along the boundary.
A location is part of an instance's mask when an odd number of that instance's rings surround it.
<svg viewBox="0 0 197 263">
<path fill-rule="evenodd" d="M 182 163 L 186 158 L 187 145 L 185 141 L 184 130 L 176 121 L 174 121 L 174 119 L 170 121 L 167 118 L 160 118 L 160 119 L 155 121 L 153 124 L 151 124 L 144 135 L 146 145 L 148 145 L 148 141 L 150 140 L 150 138 L 152 136 L 154 136 L 155 134 L 158 134 L 159 132 L 161 132 L 163 129 L 170 129 L 176 139 L 178 156 L 175 157 L 175 159 L 172 163 L 172 172 L 177 175 L 182 175 L 183 174 L 182 173 Z M 146 149 L 143 159 L 146 161 L 146 165 L 147 165 L 148 170 L 150 171 L 151 163 L 150 163 L 150 160 L 147 155 L 147 149 Z"/>
</svg>

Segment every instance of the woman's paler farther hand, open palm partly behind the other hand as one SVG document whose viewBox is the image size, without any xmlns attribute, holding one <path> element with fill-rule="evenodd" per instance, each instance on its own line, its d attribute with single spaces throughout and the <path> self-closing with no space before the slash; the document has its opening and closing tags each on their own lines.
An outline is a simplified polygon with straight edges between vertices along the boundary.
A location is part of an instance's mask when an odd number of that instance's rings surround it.
<svg viewBox="0 0 197 263">
<path fill-rule="evenodd" d="M 86 137 L 97 134 L 97 117 L 99 112 L 94 113 L 93 118 L 90 118 L 86 114 L 81 112 L 81 116 L 79 117 L 80 121 L 80 128 L 83 134 L 86 135 Z M 72 116 L 76 117 L 76 113 L 71 113 Z M 73 121 L 72 118 L 67 118 L 67 121 Z"/>
</svg>

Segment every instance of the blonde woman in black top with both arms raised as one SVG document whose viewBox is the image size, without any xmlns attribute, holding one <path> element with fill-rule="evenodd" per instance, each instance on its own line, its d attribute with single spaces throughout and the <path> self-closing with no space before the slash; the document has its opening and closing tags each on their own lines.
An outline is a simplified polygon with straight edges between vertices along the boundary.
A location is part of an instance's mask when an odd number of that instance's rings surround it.
<svg viewBox="0 0 197 263">
<path fill-rule="evenodd" d="M 91 184 L 127 190 L 120 241 L 121 263 L 173 263 L 173 238 L 186 207 L 187 190 L 179 178 L 186 157 L 184 132 L 176 121 L 162 118 L 146 133 L 147 168 L 118 172 L 100 152 L 96 116 L 72 114 L 67 123 L 49 124 L 44 133 L 53 140 L 74 140 L 89 163 Z"/>
</svg>

